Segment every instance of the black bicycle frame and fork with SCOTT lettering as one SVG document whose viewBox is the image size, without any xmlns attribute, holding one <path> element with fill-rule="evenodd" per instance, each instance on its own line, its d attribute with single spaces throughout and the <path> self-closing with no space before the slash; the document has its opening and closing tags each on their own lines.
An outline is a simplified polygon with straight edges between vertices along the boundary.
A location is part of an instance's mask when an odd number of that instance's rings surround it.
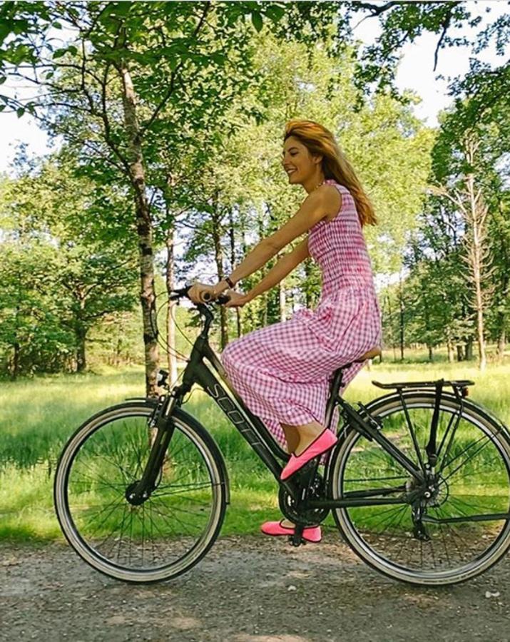
<svg viewBox="0 0 510 642">
<path fill-rule="evenodd" d="M 144 496 L 143 493 L 151 488 L 151 482 L 157 476 L 158 470 L 160 468 L 161 462 L 163 462 L 163 456 L 165 450 L 170 443 L 171 436 L 173 434 L 173 422 L 171 420 L 172 412 L 175 407 L 180 407 L 183 403 L 183 398 L 185 394 L 190 392 L 193 384 L 196 382 L 200 384 L 205 392 L 214 399 L 218 404 L 223 413 L 230 419 L 230 422 L 234 424 L 236 429 L 242 434 L 243 438 L 246 439 L 250 447 L 257 453 L 257 455 L 262 459 L 262 462 L 265 463 L 268 469 L 272 472 L 273 476 L 277 480 L 278 484 L 285 488 L 285 491 L 296 501 L 296 504 L 299 504 L 303 509 L 337 509 L 337 508 L 349 508 L 350 506 L 377 506 L 384 504 L 412 504 L 418 497 L 420 493 L 420 486 L 423 487 L 427 484 L 426 474 L 424 469 L 429 469 L 430 464 L 435 464 L 434 455 L 437 456 L 436 452 L 436 433 L 437 433 L 437 419 L 439 412 L 439 399 L 444 380 L 441 379 L 439 382 L 431 382 L 434 384 L 437 393 L 436 404 L 434 407 L 434 417 L 432 421 L 431 434 L 429 438 L 429 443 L 427 444 L 427 454 L 429 455 L 428 465 L 424 465 L 421 457 L 419 457 L 419 464 L 422 469 L 416 466 L 411 459 L 409 459 L 401 450 L 399 450 L 392 442 L 389 441 L 384 434 L 377 429 L 377 422 L 374 422 L 373 417 L 369 417 L 367 414 L 367 419 L 365 420 L 359 412 L 356 411 L 350 404 L 348 404 L 340 395 L 338 390 L 341 387 L 341 381 L 338 377 L 332 379 L 330 385 L 330 397 L 327 401 L 326 407 L 326 424 L 330 425 L 330 420 L 332 417 L 332 412 L 335 409 L 335 405 L 340 405 L 342 408 L 342 417 L 344 417 L 347 427 L 352 427 L 360 434 L 371 439 L 386 451 L 390 457 L 395 459 L 407 472 L 409 475 L 414 477 L 417 480 L 419 486 L 412 491 L 411 493 L 406 493 L 405 486 L 397 486 L 387 489 L 370 489 L 366 491 L 353 491 L 351 493 L 346 493 L 342 499 L 305 499 L 300 501 L 300 488 L 297 481 L 281 481 L 280 474 L 282 472 L 282 464 L 278 459 L 283 459 L 286 461 L 289 459 L 290 455 L 285 452 L 279 444 L 272 438 L 270 432 L 268 431 L 265 424 L 261 421 L 259 417 L 250 412 L 250 409 L 245 406 L 243 399 L 238 395 L 238 393 L 233 389 L 228 381 L 228 373 L 225 372 L 223 364 L 218 359 L 212 347 L 210 347 L 208 341 L 208 331 L 210 323 L 213 320 L 213 314 L 210 309 L 203 304 L 198 304 L 198 310 L 205 317 L 205 324 L 202 332 L 195 340 L 193 344 L 193 349 L 191 350 L 190 359 L 188 364 L 185 367 L 183 372 L 183 382 L 182 384 L 175 386 L 170 394 L 165 396 L 163 399 L 163 404 L 156 411 L 153 423 L 158 427 L 158 438 L 153 444 L 151 449 L 151 454 L 148 459 L 148 464 L 143 473 L 142 482 L 138 485 L 137 493 L 140 496 Z M 205 364 L 204 359 L 207 359 L 212 365 L 213 370 Z M 347 367 L 347 365 L 345 366 Z M 215 376 L 214 372 L 220 374 L 220 379 Z M 427 382 L 429 383 L 429 382 Z M 466 383 L 466 382 L 459 382 Z M 468 382 L 471 383 L 471 382 Z M 392 384 L 378 384 L 379 387 L 392 387 Z M 405 387 L 406 384 L 394 384 L 397 388 Z M 412 386 L 412 384 L 411 384 Z M 402 397 L 402 390 L 399 389 L 399 393 Z M 457 393 L 457 390 L 456 390 Z M 362 407 L 362 404 L 359 404 Z M 404 409 L 407 408 L 404 404 Z M 409 417 L 407 416 L 407 419 Z M 459 418 L 457 419 L 458 424 Z M 375 425 L 374 425 L 375 424 Z M 457 428 L 457 424 L 454 427 Z M 345 435 L 340 435 L 340 443 L 342 439 L 345 438 Z M 415 444 L 416 446 L 417 444 Z M 441 450 L 443 446 L 439 445 Z M 338 446 L 335 446 L 335 449 Z M 449 447 L 449 444 L 448 444 Z M 328 462 L 331 452 L 328 454 Z M 437 458 L 437 457 L 436 457 Z M 430 462 L 432 459 L 432 462 Z M 393 494 L 395 492 L 402 492 L 404 496 L 400 497 L 384 497 L 385 494 Z M 377 495 L 377 496 L 374 496 Z M 383 495 L 383 496 L 382 496 Z M 144 496 L 145 497 L 145 496 Z M 469 517 L 464 517 L 464 521 L 481 521 L 483 519 L 504 519 L 510 518 L 510 514 L 490 514 L 486 516 L 474 515 Z M 446 518 L 446 519 L 435 519 L 432 517 L 423 516 L 423 521 L 433 521 L 446 523 L 447 521 L 460 521 L 458 518 Z"/>
</svg>

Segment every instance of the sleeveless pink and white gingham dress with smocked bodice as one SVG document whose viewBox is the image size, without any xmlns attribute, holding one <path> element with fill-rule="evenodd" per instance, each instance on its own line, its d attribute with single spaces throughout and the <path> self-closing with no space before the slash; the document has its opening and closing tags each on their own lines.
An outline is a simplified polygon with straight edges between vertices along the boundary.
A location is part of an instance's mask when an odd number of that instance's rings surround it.
<svg viewBox="0 0 510 642">
<path fill-rule="evenodd" d="M 285 448 L 280 423 L 325 424 L 334 371 L 380 345 L 381 315 L 355 200 L 334 179 L 342 194 L 336 217 L 322 219 L 308 232 L 310 256 L 320 266 L 322 291 L 315 310 L 297 310 L 231 341 L 220 360 L 236 392 Z M 342 394 L 365 362 L 343 372 Z M 331 429 L 336 432 L 338 408 Z"/>
</svg>

